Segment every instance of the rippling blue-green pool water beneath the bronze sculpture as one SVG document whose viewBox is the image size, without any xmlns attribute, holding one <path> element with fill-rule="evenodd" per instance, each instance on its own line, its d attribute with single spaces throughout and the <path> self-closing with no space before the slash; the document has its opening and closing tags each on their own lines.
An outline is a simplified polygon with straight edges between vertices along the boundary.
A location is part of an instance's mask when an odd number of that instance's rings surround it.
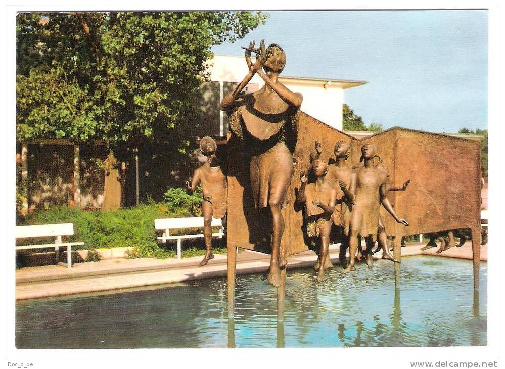
<svg viewBox="0 0 505 369">
<path fill-rule="evenodd" d="M 473 295 L 472 262 L 428 256 L 394 268 L 334 268 L 316 281 L 290 270 L 284 320 L 276 289 L 238 275 L 235 319 L 224 278 L 132 291 L 20 301 L 17 348 L 482 346 L 487 332 L 487 264 Z M 401 294 L 401 304 L 400 304 Z"/>
</svg>

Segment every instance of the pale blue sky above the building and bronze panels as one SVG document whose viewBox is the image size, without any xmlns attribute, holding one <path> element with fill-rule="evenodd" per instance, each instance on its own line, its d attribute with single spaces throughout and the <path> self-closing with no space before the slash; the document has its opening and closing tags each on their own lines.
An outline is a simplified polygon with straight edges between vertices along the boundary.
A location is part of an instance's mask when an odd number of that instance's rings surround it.
<svg viewBox="0 0 505 369">
<path fill-rule="evenodd" d="M 264 38 L 285 50 L 283 75 L 367 81 L 344 90 L 344 102 L 366 125 L 487 128 L 486 10 L 266 13 L 245 39 L 212 51 L 240 56 L 240 46 Z"/>
</svg>

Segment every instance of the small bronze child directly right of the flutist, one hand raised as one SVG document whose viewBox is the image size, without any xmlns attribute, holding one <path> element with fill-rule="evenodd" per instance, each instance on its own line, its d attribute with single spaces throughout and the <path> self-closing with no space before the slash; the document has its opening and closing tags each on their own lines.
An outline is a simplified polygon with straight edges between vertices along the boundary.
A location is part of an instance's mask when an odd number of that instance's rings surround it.
<svg viewBox="0 0 505 369">
<path fill-rule="evenodd" d="M 307 184 L 307 175 L 302 173 L 300 176 L 302 184 L 296 199 L 305 208 L 307 236 L 312 242 L 320 243 L 319 258 L 316 264 L 318 265 L 317 280 L 319 281 L 324 280 L 324 260 L 328 257 L 332 214 L 337 199 L 337 189 L 325 179 L 327 172 L 328 163 L 316 159 L 312 163 L 312 173 L 315 176 L 315 181 Z"/>
</svg>

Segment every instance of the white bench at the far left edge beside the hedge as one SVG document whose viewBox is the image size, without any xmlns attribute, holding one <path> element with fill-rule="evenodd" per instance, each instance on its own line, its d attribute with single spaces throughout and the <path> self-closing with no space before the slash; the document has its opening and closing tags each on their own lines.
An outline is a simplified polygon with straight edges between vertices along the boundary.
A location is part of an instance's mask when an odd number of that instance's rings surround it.
<svg viewBox="0 0 505 369">
<path fill-rule="evenodd" d="M 55 237 L 55 242 L 53 244 L 16 246 L 16 251 L 27 249 L 54 248 L 56 253 L 56 262 L 59 265 L 66 265 L 68 268 L 72 267 L 72 246 L 84 245 L 84 242 L 61 242 L 62 236 L 69 236 L 74 234 L 74 225 L 72 223 L 18 225 L 16 226 L 15 233 L 16 239 L 32 237 Z M 67 247 L 67 262 L 59 262 L 59 248 L 65 246 Z"/>
</svg>

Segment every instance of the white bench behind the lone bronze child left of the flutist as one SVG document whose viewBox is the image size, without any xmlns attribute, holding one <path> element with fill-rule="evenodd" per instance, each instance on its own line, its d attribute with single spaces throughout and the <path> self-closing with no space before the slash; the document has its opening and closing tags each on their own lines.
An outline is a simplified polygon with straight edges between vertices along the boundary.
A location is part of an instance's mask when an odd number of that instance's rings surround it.
<svg viewBox="0 0 505 369">
<path fill-rule="evenodd" d="M 224 236 L 224 227 L 222 225 L 221 219 L 212 218 L 210 223 L 211 227 L 218 227 L 218 232 L 212 234 L 212 238 L 222 238 Z M 182 240 L 187 239 L 197 239 L 203 238 L 203 233 L 197 233 L 192 235 L 176 235 L 171 236 L 170 230 L 182 229 L 182 228 L 202 228 L 203 232 L 203 216 L 194 218 L 167 218 L 167 219 L 155 219 L 154 227 L 156 230 L 162 230 L 163 236 L 158 237 L 158 240 L 166 242 L 167 240 L 177 240 L 177 258 L 180 259 L 180 247 Z"/>
</svg>

